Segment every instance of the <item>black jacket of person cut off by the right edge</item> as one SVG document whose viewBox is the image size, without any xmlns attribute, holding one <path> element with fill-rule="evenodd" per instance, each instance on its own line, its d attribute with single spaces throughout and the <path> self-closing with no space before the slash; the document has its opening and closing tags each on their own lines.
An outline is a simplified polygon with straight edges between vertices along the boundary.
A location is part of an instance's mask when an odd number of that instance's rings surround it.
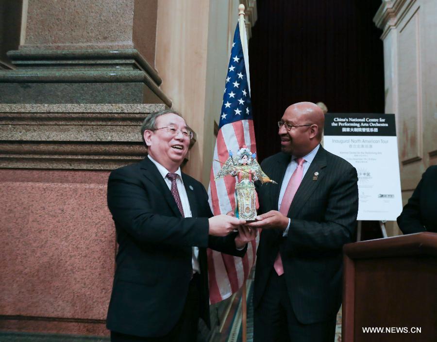
<svg viewBox="0 0 437 342">
<path fill-rule="evenodd" d="M 398 225 L 404 234 L 432 231 L 437 233 L 437 165 L 430 166 L 405 204 Z"/>
</svg>

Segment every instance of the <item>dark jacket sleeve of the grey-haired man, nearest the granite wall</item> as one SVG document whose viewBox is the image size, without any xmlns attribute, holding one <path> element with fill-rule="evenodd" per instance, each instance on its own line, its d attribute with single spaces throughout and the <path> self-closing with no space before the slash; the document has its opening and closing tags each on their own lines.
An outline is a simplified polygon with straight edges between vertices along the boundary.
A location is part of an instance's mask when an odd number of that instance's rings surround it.
<svg viewBox="0 0 437 342">
<path fill-rule="evenodd" d="M 108 180 L 107 196 L 117 227 L 140 244 L 208 245 L 207 217 L 182 218 L 157 213 L 152 209 L 148 189 L 132 171 L 114 170 Z"/>
</svg>

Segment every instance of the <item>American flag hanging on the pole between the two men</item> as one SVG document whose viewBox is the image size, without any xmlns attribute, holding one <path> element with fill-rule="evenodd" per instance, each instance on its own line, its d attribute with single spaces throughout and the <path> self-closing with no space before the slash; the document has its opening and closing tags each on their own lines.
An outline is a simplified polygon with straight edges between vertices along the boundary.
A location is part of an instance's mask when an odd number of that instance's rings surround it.
<svg viewBox="0 0 437 342">
<path fill-rule="evenodd" d="M 246 39 L 244 30 L 243 39 Z M 244 59 L 239 25 L 235 29 L 228 73 L 226 75 L 223 103 L 220 112 L 214 159 L 224 163 L 229 151 L 236 152 L 246 145 L 255 153 L 253 130 L 249 61 Z M 235 210 L 235 177 L 226 176 L 214 180 L 222 164 L 213 161 L 208 188 L 209 204 L 214 215 Z M 256 257 L 256 242 L 248 245 L 243 258 L 221 254 L 208 249 L 209 293 L 211 304 L 217 303 L 237 292 L 249 276 Z"/>
</svg>

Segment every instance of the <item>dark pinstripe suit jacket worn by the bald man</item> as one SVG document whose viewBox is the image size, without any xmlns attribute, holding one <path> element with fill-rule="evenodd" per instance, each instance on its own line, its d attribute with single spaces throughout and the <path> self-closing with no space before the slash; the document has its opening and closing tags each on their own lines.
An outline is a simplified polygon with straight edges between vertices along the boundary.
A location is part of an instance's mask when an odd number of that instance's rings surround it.
<svg viewBox="0 0 437 342">
<path fill-rule="evenodd" d="M 260 212 L 278 210 L 278 198 L 291 156 L 278 153 L 261 167 L 277 186 L 258 187 Z M 314 173 L 319 172 L 317 180 Z M 342 247 L 352 241 L 358 212 L 355 168 L 319 147 L 288 211 L 288 236 L 263 230 L 257 251 L 253 305 L 263 292 L 278 251 L 291 305 L 304 324 L 331 319 L 341 304 Z"/>
</svg>

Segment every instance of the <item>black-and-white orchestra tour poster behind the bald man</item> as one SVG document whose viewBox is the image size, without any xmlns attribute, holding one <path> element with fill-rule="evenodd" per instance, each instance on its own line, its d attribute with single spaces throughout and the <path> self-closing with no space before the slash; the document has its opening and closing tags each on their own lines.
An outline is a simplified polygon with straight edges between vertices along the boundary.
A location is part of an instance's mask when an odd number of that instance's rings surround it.
<svg viewBox="0 0 437 342">
<path fill-rule="evenodd" d="M 357 170 L 357 220 L 395 221 L 402 197 L 394 114 L 326 114 L 323 147 Z"/>
</svg>

